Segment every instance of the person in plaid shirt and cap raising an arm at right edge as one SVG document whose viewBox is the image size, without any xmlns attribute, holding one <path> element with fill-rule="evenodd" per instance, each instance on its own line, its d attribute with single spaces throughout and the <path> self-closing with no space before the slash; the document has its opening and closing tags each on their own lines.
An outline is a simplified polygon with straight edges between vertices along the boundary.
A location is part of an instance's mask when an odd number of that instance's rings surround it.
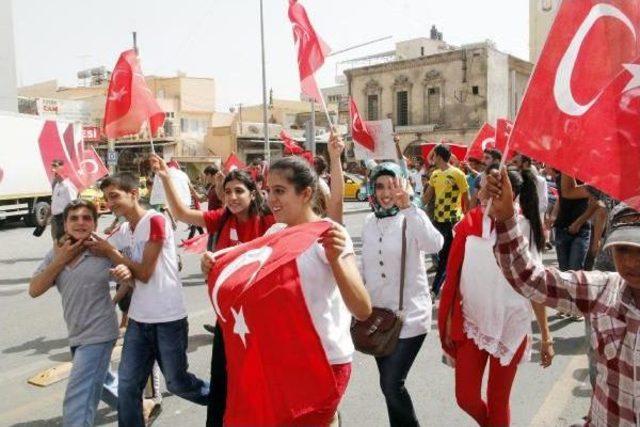
<svg viewBox="0 0 640 427">
<path fill-rule="evenodd" d="M 531 258 L 506 170 L 488 180 L 495 255 L 511 286 L 532 301 L 591 320 L 597 376 L 587 425 L 639 425 L 640 213 L 621 209 L 611 221 L 604 249 L 612 251 L 616 272 L 561 272 Z"/>
</svg>

